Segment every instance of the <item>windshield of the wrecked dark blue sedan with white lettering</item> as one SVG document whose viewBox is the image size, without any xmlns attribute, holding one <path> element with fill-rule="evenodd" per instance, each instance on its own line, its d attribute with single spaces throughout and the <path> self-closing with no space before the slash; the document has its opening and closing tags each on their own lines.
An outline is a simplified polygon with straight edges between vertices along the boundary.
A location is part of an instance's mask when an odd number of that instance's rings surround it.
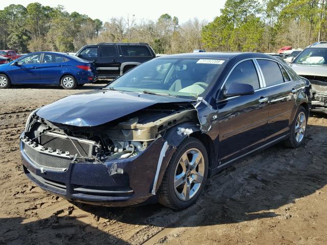
<svg viewBox="0 0 327 245">
<path fill-rule="evenodd" d="M 221 72 L 224 63 L 222 59 L 153 59 L 136 66 L 104 89 L 196 98 Z"/>
</svg>

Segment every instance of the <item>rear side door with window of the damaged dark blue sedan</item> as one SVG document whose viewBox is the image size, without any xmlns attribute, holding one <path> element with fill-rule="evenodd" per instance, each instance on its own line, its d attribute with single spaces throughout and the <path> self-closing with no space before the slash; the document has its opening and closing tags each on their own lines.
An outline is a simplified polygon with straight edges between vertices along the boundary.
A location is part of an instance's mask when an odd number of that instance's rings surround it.
<svg viewBox="0 0 327 245">
<path fill-rule="evenodd" d="M 296 81 L 291 80 L 285 68 L 276 61 L 256 59 L 263 82 L 269 94 L 267 140 L 274 140 L 289 130 L 295 106 Z"/>
</svg>

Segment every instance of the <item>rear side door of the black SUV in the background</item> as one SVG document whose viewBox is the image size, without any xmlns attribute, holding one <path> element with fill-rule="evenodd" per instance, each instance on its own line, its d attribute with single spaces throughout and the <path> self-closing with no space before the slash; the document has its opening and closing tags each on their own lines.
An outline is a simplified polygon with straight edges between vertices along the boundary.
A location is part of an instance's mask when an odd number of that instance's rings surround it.
<svg viewBox="0 0 327 245">
<path fill-rule="evenodd" d="M 120 63 L 118 62 L 118 49 L 116 45 L 99 46 L 98 76 L 119 76 Z"/>
</svg>

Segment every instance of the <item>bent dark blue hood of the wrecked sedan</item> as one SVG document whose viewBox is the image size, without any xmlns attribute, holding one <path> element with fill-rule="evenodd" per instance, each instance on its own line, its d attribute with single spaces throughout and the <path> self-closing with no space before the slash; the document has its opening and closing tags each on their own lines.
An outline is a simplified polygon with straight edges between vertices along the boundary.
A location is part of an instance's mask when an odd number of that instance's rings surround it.
<svg viewBox="0 0 327 245">
<path fill-rule="evenodd" d="M 37 111 L 37 115 L 60 124 L 88 127 L 105 124 L 157 103 L 193 102 L 171 96 L 94 90 L 69 95 Z"/>
</svg>

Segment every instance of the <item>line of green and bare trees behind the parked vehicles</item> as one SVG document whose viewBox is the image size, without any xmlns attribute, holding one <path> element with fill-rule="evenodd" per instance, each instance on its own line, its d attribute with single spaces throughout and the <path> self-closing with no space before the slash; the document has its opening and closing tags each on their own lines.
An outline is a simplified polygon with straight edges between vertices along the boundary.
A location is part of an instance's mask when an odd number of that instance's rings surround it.
<svg viewBox="0 0 327 245">
<path fill-rule="evenodd" d="M 0 49 L 76 52 L 97 42 L 148 42 L 156 53 L 276 52 L 327 41 L 327 0 L 227 0 L 212 22 L 162 14 L 156 21 L 134 15 L 107 22 L 31 3 L 0 10 Z M 219 11 L 217 10 L 217 15 Z"/>
</svg>

